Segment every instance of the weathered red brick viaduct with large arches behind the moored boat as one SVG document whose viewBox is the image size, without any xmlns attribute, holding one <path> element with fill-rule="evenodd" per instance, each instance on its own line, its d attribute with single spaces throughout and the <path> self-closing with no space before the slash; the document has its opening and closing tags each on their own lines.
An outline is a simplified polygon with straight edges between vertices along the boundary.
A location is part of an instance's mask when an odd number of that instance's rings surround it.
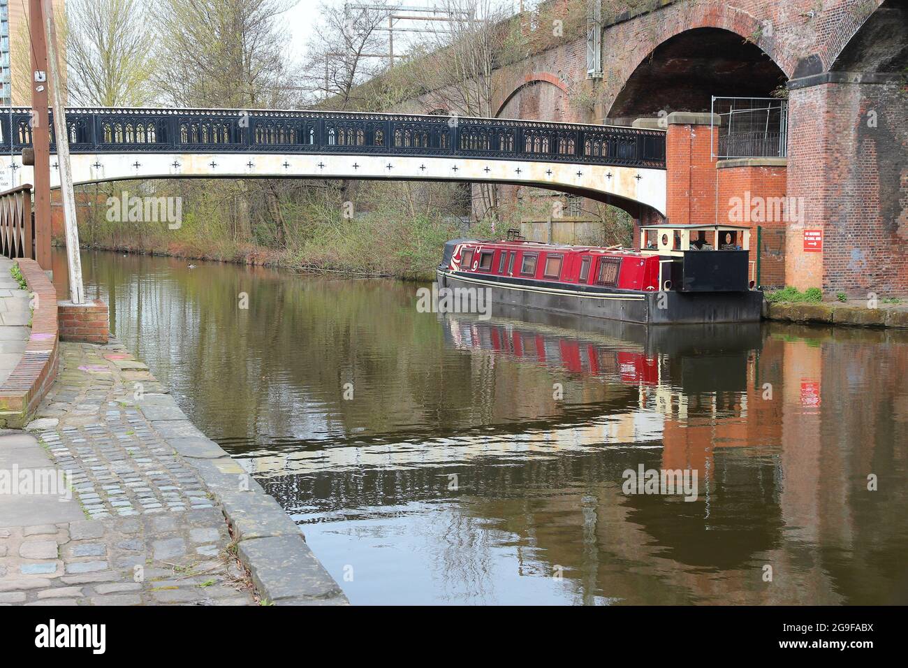
<svg viewBox="0 0 908 668">
<path fill-rule="evenodd" d="M 546 16 L 585 5 L 550 0 Z M 604 6 L 602 77 L 587 78 L 586 35 L 565 38 L 496 72 L 496 115 L 666 127 L 671 221 L 721 222 L 735 197 L 786 196 L 785 220 L 756 221 L 765 249 L 776 241 L 765 284 L 908 294 L 908 2 Z M 712 159 L 711 96 L 774 91 L 788 97 L 787 159 Z M 399 108 L 436 112 L 433 99 Z M 822 251 L 804 250 L 804 230 L 822 231 Z"/>
</svg>

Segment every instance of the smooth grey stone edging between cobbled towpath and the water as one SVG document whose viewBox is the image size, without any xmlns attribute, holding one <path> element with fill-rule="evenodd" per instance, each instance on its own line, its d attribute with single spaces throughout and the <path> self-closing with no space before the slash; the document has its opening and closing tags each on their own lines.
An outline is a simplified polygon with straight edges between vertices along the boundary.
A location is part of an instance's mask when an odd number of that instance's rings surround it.
<svg viewBox="0 0 908 668">
<path fill-rule="evenodd" d="M 106 347 L 125 352 L 123 344 L 115 340 Z M 156 379 L 152 382 L 157 383 Z M 143 394 L 136 407 L 208 487 L 230 526 L 236 556 L 248 569 L 262 601 L 275 605 L 350 603 L 312 553 L 300 527 L 252 474 L 192 424 L 173 396 Z"/>
</svg>

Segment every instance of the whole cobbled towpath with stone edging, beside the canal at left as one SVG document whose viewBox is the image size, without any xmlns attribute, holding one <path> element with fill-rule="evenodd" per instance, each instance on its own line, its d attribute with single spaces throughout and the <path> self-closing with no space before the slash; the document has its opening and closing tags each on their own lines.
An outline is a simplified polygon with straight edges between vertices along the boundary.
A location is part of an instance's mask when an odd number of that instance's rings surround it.
<svg viewBox="0 0 908 668">
<path fill-rule="evenodd" d="M 121 344 L 61 344 L 37 419 L 0 433 L 0 605 L 346 603 L 243 477 Z"/>
</svg>

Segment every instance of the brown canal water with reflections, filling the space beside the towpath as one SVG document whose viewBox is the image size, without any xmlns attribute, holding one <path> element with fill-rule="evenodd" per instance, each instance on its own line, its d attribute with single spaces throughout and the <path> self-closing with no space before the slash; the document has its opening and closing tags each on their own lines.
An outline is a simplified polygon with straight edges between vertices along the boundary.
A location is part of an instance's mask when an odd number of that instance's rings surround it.
<svg viewBox="0 0 908 668">
<path fill-rule="evenodd" d="M 908 603 L 906 333 L 482 320 L 392 280 L 83 263 L 352 603 Z M 674 490 L 628 473 L 662 470 Z"/>
</svg>

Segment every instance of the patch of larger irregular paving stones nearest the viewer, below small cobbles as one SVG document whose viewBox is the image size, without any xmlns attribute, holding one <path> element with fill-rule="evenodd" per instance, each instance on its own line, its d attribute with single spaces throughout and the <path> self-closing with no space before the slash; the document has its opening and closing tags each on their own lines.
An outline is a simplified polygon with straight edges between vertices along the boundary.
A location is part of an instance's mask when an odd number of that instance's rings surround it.
<svg viewBox="0 0 908 668">
<path fill-rule="evenodd" d="M 0 605 L 254 604 L 228 544 L 214 509 L 7 527 Z"/>
</svg>

